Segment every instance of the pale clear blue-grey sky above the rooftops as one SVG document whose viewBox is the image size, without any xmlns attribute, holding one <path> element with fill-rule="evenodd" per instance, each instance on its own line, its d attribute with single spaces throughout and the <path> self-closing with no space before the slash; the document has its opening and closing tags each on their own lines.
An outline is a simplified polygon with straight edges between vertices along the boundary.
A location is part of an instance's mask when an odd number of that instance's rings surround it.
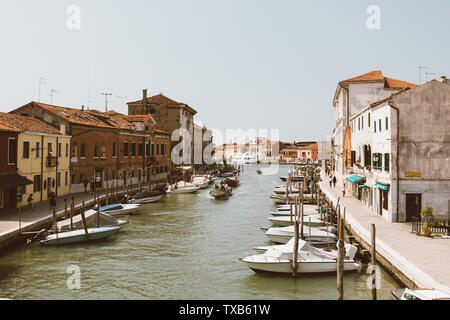
<svg viewBox="0 0 450 320">
<path fill-rule="evenodd" d="M 80 29 L 70 30 L 70 5 Z M 366 10 L 381 9 L 370 30 Z M 0 111 L 31 100 L 126 113 L 164 95 L 211 128 L 280 129 L 314 140 L 333 129 L 340 80 L 381 69 L 419 82 L 450 76 L 450 1 L 40 0 L 0 8 Z M 70 20 L 73 21 L 73 20 Z"/>
</svg>

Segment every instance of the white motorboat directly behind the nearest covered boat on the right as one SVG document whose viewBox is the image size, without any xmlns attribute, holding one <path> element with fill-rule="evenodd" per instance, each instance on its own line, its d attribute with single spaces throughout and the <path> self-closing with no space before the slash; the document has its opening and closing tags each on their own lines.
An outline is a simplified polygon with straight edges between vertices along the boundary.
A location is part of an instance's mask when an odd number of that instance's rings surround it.
<svg viewBox="0 0 450 320">
<path fill-rule="evenodd" d="M 301 226 L 300 226 L 301 228 Z M 311 229 L 311 233 L 310 233 Z M 266 236 L 275 243 L 285 244 L 287 243 L 295 234 L 295 227 L 282 227 L 282 228 L 270 228 L 268 230 L 262 229 Z M 300 230 L 299 230 L 300 233 Z M 337 241 L 335 234 L 331 232 L 321 231 L 317 228 L 303 227 L 303 236 L 305 240 L 311 240 L 312 245 L 322 246 L 322 245 L 334 245 Z"/>
</svg>

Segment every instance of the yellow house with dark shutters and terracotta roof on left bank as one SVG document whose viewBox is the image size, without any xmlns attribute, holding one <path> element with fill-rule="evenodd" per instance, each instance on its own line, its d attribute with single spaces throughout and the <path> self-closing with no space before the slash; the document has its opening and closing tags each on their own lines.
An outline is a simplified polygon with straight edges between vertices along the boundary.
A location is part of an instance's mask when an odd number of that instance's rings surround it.
<svg viewBox="0 0 450 320">
<path fill-rule="evenodd" d="M 17 141 L 17 173 L 33 181 L 23 187 L 22 201 L 17 205 L 28 205 L 49 199 L 51 192 L 57 197 L 70 192 L 70 136 L 65 128 L 60 130 L 32 117 L 15 114 L 0 114 L 2 122 L 19 129 Z"/>
</svg>

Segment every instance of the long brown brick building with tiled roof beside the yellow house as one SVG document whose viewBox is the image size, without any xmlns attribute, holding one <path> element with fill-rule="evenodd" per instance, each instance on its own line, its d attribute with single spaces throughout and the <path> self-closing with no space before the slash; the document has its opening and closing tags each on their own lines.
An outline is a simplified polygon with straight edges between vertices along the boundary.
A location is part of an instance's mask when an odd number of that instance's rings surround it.
<svg viewBox="0 0 450 320">
<path fill-rule="evenodd" d="M 105 188 L 146 183 L 149 171 L 150 137 L 148 121 L 130 121 L 110 111 L 58 107 L 31 102 L 12 113 L 33 116 L 65 128 L 71 139 L 71 192 L 88 190 L 94 184 Z M 152 123 L 154 125 L 154 123 Z"/>
</svg>

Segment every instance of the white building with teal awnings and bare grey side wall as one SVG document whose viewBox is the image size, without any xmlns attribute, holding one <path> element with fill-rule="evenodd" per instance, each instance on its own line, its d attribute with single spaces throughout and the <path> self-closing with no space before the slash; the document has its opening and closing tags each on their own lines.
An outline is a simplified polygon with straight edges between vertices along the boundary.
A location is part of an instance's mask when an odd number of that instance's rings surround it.
<svg viewBox="0 0 450 320">
<path fill-rule="evenodd" d="M 426 206 L 435 209 L 435 216 L 449 216 L 450 85 L 446 81 L 406 88 L 350 118 L 346 190 L 390 222 L 419 218 Z"/>
</svg>

